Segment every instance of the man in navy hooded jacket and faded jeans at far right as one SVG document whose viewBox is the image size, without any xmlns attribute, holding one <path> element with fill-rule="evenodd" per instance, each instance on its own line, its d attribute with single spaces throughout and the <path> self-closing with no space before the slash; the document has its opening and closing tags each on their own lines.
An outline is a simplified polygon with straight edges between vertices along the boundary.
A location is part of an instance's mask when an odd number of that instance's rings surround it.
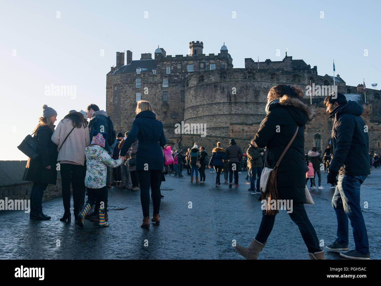
<svg viewBox="0 0 381 286">
<path fill-rule="evenodd" d="M 326 248 L 331 251 L 348 250 L 349 218 L 355 249 L 340 255 L 351 259 L 370 259 L 368 234 L 360 206 L 360 187 L 370 174 L 369 137 L 364 130 L 365 122 L 360 117 L 364 109 L 357 102 L 347 102 L 344 94 L 336 94 L 336 98 L 332 93 L 324 100 L 327 112 L 333 118 L 332 159 L 327 181 L 331 184 L 337 182 L 332 206 L 338 221 L 338 237 Z"/>
</svg>

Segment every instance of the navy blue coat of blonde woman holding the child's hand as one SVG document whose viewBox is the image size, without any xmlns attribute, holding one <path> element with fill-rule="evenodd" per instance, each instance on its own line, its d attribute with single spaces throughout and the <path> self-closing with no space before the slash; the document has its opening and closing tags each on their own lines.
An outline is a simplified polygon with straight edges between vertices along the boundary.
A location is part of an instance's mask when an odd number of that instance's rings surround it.
<svg viewBox="0 0 381 286">
<path fill-rule="evenodd" d="M 156 119 L 152 111 L 141 111 L 135 116 L 131 131 L 120 150 L 120 156 L 125 156 L 128 149 L 138 138 L 138 151 L 136 152 L 136 171 L 144 170 L 148 164 L 148 170 L 160 170 L 164 168 L 163 149 L 166 139 L 162 122 Z"/>
</svg>

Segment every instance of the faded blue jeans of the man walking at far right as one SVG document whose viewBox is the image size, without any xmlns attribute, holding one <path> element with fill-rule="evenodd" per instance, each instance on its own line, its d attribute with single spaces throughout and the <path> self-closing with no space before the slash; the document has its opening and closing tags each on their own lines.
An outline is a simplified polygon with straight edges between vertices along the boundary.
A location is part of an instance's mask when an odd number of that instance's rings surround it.
<svg viewBox="0 0 381 286">
<path fill-rule="evenodd" d="M 351 221 L 355 248 L 369 254 L 367 229 L 360 206 L 360 187 L 367 175 L 339 175 L 332 206 L 337 217 L 336 241 L 348 245 L 348 218 Z"/>
</svg>

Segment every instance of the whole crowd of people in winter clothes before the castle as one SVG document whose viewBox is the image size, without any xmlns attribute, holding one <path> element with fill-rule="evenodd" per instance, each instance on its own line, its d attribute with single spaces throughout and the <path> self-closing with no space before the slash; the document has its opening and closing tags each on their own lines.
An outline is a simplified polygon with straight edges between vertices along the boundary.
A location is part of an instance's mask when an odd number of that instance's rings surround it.
<svg viewBox="0 0 381 286">
<path fill-rule="evenodd" d="M 323 155 L 315 146 L 304 153 L 304 129 L 306 123 L 313 119 L 314 112 L 303 102 L 303 91 L 287 85 L 270 89 L 266 117 L 246 153 L 233 138 L 226 148 L 218 142 L 211 155 L 197 143 L 187 151 L 171 150 L 171 146 L 166 145 L 162 122 L 157 120 L 152 106 L 145 100 L 137 102 L 132 128 L 124 137 L 121 132 L 116 134 L 106 111 L 99 110 L 95 104 L 89 105 L 86 112 L 69 111 L 56 128 L 56 111 L 44 105 L 43 116 L 34 135 L 40 156 L 28 159 L 24 174 L 24 180 L 34 182 L 30 194 L 30 218 L 50 219 L 43 214 L 41 201 L 48 184 L 56 184 L 58 169 L 61 171 L 64 206 L 61 221 L 70 221 L 71 184 L 78 226 L 83 227 L 86 218 L 97 221 L 99 227 L 108 226 L 108 189 L 117 186 L 133 191 L 140 188 L 141 227 L 149 228 L 150 222 L 160 224 L 160 186 L 165 181 L 165 174 L 183 177 L 182 171 L 186 169 L 191 183 L 195 178 L 195 183 L 203 184 L 208 167 L 216 173 L 216 187 L 221 186 L 223 173 L 224 183 L 231 188 L 233 182 L 235 187 L 239 187 L 240 171 L 247 168 L 246 179 L 250 178 L 248 191 L 261 194 L 261 200 L 265 195 L 260 184 L 263 169 L 275 168 L 277 195 L 280 200 L 293 202 L 293 211 L 289 215 L 299 227 L 309 257 L 325 259 L 304 208 L 308 180 L 311 181 L 310 189 L 316 189 L 317 175 L 317 189 L 324 189 L 323 167 L 324 172 L 328 172 L 327 184 L 335 188 L 332 206 L 338 221 L 337 238 L 326 249 L 347 251 L 341 253 L 346 258 L 369 259 L 367 230 L 360 207 L 360 186 L 370 174 L 371 165 L 379 167 L 379 157 L 368 153 L 369 138 L 368 133 L 363 132 L 364 121 L 360 117 L 363 108 L 360 104 L 347 101 L 344 94 L 338 92 L 335 97 L 328 95 L 324 105 L 333 120 L 334 132 Z M 89 122 L 87 118 L 90 118 Z M 277 131 L 279 127 L 280 132 Z M 111 173 L 114 176 L 112 183 Z M 151 219 L 150 189 L 153 203 Z M 86 202 L 85 191 L 88 196 Z M 90 214 L 93 205 L 94 212 Z M 258 233 L 250 246 L 235 246 L 239 254 L 247 259 L 257 259 L 271 234 L 275 215 L 263 211 Z M 351 251 L 348 251 L 348 219 L 355 240 L 355 249 Z"/>
</svg>

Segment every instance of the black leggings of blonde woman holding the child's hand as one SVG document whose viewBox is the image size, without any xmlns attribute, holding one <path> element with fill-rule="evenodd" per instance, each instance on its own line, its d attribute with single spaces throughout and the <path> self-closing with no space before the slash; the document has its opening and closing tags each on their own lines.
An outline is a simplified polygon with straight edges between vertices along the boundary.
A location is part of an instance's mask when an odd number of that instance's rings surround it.
<svg viewBox="0 0 381 286">
<path fill-rule="evenodd" d="M 143 216 L 149 216 L 149 187 L 152 192 L 152 203 L 154 205 L 154 215 L 160 209 L 160 175 L 162 171 L 137 171 L 140 182 L 140 202 L 142 204 Z"/>
</svg>

